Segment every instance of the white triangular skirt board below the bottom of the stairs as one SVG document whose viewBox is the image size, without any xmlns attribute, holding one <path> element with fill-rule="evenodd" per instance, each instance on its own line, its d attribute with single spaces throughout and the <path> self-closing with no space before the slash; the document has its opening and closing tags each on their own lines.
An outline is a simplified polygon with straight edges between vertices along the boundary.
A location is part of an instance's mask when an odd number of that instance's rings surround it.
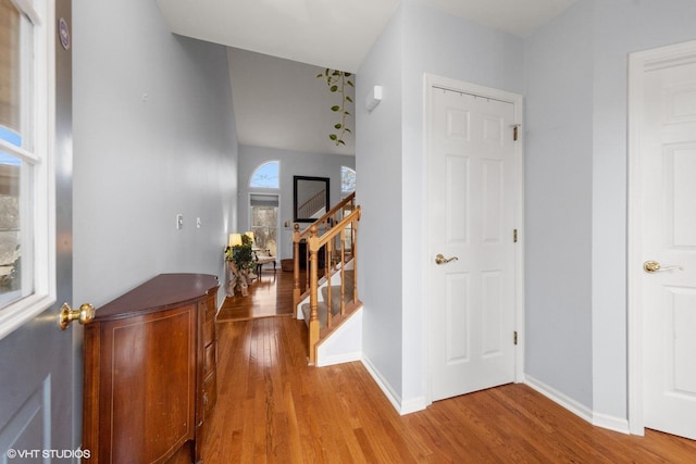
<svg viewBox="0 0 696 464">
<path fill-rule="evenodd" d="M 362 308 L 356 310 L 316 347 L 316 366 L 331 366 L 362 359 Z"/>
</svg>

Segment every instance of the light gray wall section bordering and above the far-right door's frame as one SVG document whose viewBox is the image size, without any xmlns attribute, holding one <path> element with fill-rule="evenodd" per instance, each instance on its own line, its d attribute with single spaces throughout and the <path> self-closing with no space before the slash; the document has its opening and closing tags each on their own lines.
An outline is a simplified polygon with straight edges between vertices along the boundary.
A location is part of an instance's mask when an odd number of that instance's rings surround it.
<svg viewBox="0 0 696 464">
<path fill-rule="evenodd" d="M 696 2 L 595 0 L 594 4 L 594 410 L 625 417 L 627 55 L 696 39 Z"/>
</svg>

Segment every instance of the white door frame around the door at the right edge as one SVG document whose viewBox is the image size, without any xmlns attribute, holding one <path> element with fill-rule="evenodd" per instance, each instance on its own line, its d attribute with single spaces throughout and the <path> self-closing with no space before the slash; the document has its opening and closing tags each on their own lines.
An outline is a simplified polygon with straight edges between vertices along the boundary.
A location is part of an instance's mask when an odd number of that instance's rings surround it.
<svg viewBox="0 0 696 464">
<path fill-rule="evenodd" d="M 641 181 L 641 125 L 643 111 L 644 76 L 650 70 L 680 61 L 696 60 L 696 40 L 659 47 L 629 54 L 627 101 L 627 230 L 626 230 L 626 318 L 629 369 L 629 431 L 645 435 L 643 417 L 643 306 L 641 302 L 641 273 L 644 258 L 641 248 L 643 191 L 649 186 Z"/>
</svg>

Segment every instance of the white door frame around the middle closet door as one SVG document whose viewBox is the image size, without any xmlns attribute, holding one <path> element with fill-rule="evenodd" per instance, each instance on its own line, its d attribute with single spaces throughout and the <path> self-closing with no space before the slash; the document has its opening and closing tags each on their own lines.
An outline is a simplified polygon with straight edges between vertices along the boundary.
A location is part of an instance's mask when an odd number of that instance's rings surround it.
<svg viewBox="0 0 696 464">
<path fill-rule="evenodd" d="M 451 90 L 455 92 L 462 92 L 468 95 L 473 95 L 481 98 L 487 98 L 492 100 L 498 100 L 506 103 L 511 103 L 513 105 L 513 114 L 514 114 L 514 125 L 518 127 L 523 127 L 523 108 L 522 102 L 523 98 L 519 93 L 512 93 L 505 90 L 499 90 L 490 87 L 484 87 L 476 84 L 467 83 L 463 80 L 457 80 L 449 77 L 437 76 L 434 74 L 425 74 L 423 81 L 423 153 L 424 153 L 424 188 L 425 192 L 423 195 L 424 201 L 424 223 L 427 222 L 427 218 L 431 217 L 432 209 L 431 209 L 431 110 L 432 110 L 432 100 L 431 100 L 431 89 L 433 87 L 443 88 L 447 90 Z M 515 348 L 515 372 L 514 372 L 514 381 L 523 383 L 524 381 L 524 347 L 525 347 L 525 337 L 524 337 L 524 131 L 518 130 L 518 140 L 514 143 L 514 166 L 513 171 L 517 176 L 517 185 L 513 187 L 513 190 L 517 191 L 517 202 L 514 206 L 514 215 L 515 223 L 518 224 L 518 246 L 514 249 L 514 326 L 518 333 L 518 344 Z M 432 273 L 433 266 L 427 265 L 433 256 L 430 255 L 431 250 L 431 231 L 430 227 L 424 227 L 423 230 L 425 237 L 426 247 L 423 250 L 423 263 L 425 263 L 424 268 L 424 308 L 426 309 L 431 302 L 433 289 L 431 286 L 432 281 Z M 423 315 L 423 339 L 425 340 L 425 404 L 433 403 L 433 366 L 431 362 L 432 355 L 432 317 L 428 315 L 430 312 L 425 310 Z"/>
</svg>

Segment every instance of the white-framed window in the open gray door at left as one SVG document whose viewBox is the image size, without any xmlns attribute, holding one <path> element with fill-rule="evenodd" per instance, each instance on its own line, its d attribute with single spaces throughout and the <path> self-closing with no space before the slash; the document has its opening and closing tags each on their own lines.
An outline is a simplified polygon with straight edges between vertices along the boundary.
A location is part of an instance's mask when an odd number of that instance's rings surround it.
<svg viewBox="0 0 696 464">
<path fill-rule="evenodd" d="M 0 0 L 0 338 L 55 293 L 49 3 Z"/>
</svg>

